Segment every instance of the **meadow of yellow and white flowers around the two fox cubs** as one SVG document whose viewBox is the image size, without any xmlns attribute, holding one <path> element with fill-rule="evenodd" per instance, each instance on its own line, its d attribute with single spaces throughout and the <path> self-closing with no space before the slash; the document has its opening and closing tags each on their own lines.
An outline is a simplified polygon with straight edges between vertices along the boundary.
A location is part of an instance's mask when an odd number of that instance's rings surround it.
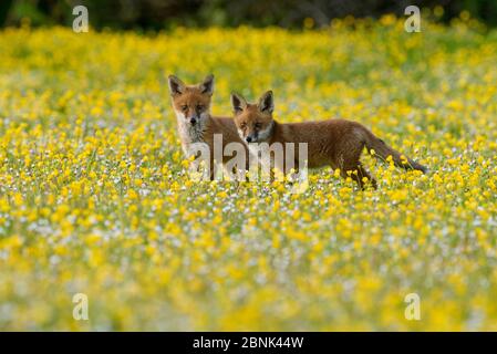
<svg viewBox="0 0 497 354">
<path fill-rule="evenodd" d="M 24 25 L 0 48 L 0 330 L 497 330 L 497 31 Z M 214 73 L 214 114 L 272 88 L 277 119 L 359 121 L 431 171 L 193 181 L 169 73 Z"/>
</svg>

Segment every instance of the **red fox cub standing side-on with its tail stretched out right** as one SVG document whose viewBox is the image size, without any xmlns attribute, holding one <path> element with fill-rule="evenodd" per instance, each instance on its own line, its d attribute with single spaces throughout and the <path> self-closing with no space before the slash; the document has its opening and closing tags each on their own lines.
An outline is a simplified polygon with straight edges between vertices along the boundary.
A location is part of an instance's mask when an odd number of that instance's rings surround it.
<svg viewBox="0 0 497 354">
<path fill-rule="evenodd" d="M 374 150 L 374 156 L 382 159 L 392 156 L 398 167 L 426 173 L 424 166 L 402 156 L 359 123 L 345 119 L 289 124 L 276 122 L 272 118 L 272 91 L 266 92 L 257 104 L 247 103 L 241 95 L 232 93 L 231 105 L 238 134 L 249 148 L 250 143 L 307 143 L 309 168 L 327 165 L 340 168 L 343 178 L 350 176 L 361 188 L 365 185 L 364 177 L 376 188 L 376 180 L 371 178 L 360 162 L 364 147 L 369 152 Z"/>
</svg>

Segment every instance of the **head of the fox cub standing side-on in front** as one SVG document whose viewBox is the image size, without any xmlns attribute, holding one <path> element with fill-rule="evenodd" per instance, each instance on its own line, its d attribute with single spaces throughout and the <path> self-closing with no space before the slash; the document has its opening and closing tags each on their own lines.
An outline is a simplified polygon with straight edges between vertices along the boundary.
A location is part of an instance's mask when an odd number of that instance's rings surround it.
<svg viewBox="0 0 497 354">
<path fill-rule="evenodd" d="M 262 143 L 271 137 L 272 111 L 275 103 L 272 91 L 266 92 L 257 104 L 247 103 L 239 94 L 231 94 L 231 105 L 235 114 L 235 124 L 244 142 Z"/>
</svg>

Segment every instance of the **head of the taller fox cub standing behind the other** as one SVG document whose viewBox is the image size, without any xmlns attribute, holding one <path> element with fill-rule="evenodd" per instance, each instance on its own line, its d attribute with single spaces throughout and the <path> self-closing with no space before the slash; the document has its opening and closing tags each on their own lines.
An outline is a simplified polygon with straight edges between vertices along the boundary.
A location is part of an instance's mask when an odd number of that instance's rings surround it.
<svg viewBox="0 0 497 354">
<path fill-rule="evenodd" d="M 179 119 L 195 126 L 208 117 L 214 92 L 213 75 L 208 75 L 197 85 L 185 85 L 175 75 L 169 75 L 168 81 L 173 107 Z"/>
</svg>

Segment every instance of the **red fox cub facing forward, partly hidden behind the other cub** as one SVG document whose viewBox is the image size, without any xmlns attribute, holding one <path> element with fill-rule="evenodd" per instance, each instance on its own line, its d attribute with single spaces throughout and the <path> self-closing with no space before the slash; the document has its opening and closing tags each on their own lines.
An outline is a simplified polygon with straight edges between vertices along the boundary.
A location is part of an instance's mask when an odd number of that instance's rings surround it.
<svg viewBox="0 0 497 354">
<path fill-rule="evenodd" d="M 213 117 L 210 115 L 210 98 L 214 92 L 214 76 L 208 75 L 204 82 L 186 85 L 174 75 L 168 76 L 173 108 L 178 122 L 179 138 L 186 157 L 191 154 L 191 145 L 206 143 L 210 152 L 211 178 L 214 174 L 214 135 L 222 136 L 222 149 L 231 142 L 241 140 L 237 134 L 235 123 L 229 117 Z M 246 159 L 248 152 L 246 149 Z M 222 156 L 222 163 L 228 157 Z"/>
</svg>

